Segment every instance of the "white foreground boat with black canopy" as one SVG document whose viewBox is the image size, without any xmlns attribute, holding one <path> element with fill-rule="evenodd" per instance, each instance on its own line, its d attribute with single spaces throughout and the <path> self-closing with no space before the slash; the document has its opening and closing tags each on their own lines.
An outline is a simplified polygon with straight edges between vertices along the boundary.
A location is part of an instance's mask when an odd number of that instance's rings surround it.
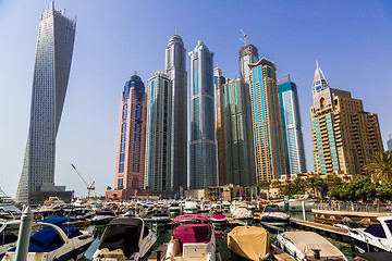
<svg viewBox="0 0 392 261">
<path fill-rule="evenodd" d="M 140 217 L 118 217 L 107 225 L 93 260 L 143 260 L 156 241 L 156 234 Z"/>
</svg>

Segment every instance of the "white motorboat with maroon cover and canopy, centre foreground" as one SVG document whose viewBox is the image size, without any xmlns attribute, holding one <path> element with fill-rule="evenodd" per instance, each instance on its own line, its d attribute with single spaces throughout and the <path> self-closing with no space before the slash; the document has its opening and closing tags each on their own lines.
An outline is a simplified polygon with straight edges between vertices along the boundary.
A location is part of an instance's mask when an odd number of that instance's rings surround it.
<svg viewBox="0 0 392 261">
<path fill-rule="evenodd" d="M 185 214 L 174 219 L 167 261 L 216 261 L 217 243 L 207 215 Z"/>
</svg>

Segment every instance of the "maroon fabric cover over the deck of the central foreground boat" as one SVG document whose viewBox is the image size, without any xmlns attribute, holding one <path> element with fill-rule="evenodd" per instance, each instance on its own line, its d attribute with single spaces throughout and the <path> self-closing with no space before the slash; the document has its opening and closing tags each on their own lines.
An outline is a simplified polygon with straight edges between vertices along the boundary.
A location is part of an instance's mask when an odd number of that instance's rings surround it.
<svg viewBox="0 0 392 261">
<path fill-rule="evenodd" d="M 173 238 L 181 244 L 185 243 L 208 243 L 210 240 L 210 229 L 208 224 L 186 224 L 175 227 Z"/>
</svg>

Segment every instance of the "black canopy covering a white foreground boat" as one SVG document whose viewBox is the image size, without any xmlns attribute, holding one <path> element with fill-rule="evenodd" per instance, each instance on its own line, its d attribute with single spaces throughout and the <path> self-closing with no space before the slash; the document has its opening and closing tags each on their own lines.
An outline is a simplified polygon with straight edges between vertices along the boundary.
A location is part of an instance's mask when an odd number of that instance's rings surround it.
<svg viewBox="0 0 392 261">
<path fill-rule="evenodd" d="M 126 258 L 139 251 L 138 243 L 143 228 L 140 219 L 115 219 L 107 226 L 98 249 L 108 248 L 109 251 L 122 249 Z"/>
</svg>

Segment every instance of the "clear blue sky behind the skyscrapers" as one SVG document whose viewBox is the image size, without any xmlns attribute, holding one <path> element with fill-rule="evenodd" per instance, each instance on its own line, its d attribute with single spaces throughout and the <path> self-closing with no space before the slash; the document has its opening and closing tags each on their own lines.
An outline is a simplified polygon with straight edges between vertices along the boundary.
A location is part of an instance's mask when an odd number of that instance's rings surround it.
<svg viewBox="0 0 392 261">
<path fill-rule="evenodd" d="M 0 0 L 0 184 L 14 197 L 27 129 L 38 25 L 49 1 Z M 74 163 L 97 195 L 114 183 L 120 95 L 137 71 L 147 83 L 163 70 L 164 48 L 177 34 L 187 51 L 203 38 L 215 64 L 238 76 L 240 28 L 278 77 L 296 83 L 313 170 L 311 82 L 319 61 L 331 87 L 363 99 L 379 114 L 383 144 L 392 133 L 392 1 L 96 1 L 60 0 L 77 15 L 69 89 L 57 140 L 56 182 L 87 195 Z"/>
</svg>

